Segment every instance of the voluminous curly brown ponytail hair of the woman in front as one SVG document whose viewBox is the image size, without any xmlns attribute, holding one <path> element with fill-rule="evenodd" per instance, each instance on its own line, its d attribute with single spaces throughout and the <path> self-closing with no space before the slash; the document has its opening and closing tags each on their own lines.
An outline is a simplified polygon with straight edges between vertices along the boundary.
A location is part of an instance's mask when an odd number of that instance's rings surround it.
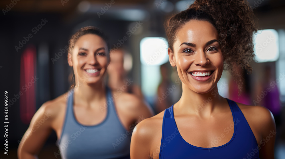
<svg viewBox="0 0 285 159">
<path fill-rule="evenodd" d="M 177 32 L 190 20 L 206 20 L 217 29 L 224 69 L 237 80 L 241 93 L 243 77 L 233 66 L 238 65 L 251 73 L 253 33 L 257 32 L 255 15 L 247 0 L 196 0 L 187 10 L 170 17 L 165 30 L 172 51 Z"/>
</svg>

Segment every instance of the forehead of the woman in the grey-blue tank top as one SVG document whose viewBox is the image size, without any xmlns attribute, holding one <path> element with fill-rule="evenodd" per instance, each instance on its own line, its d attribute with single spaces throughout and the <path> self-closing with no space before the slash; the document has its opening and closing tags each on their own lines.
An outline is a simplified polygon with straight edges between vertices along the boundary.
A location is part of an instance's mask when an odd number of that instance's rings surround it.
<svg viewBox="0 0 285 159">
<path fill-rule="evenodd" d="M 107 44 L 105 40 L 98 35 L 86 34 L 78 38 L 74 47 L 79 45 L 80 47 L 106 47 Z"/>
</svg>

